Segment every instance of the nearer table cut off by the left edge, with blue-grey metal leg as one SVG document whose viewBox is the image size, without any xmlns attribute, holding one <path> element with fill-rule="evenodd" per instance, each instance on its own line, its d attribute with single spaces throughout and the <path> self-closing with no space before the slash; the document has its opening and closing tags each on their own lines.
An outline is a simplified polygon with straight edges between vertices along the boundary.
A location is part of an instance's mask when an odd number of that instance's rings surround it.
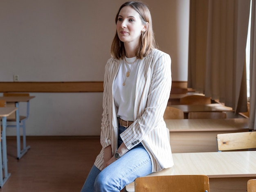
<svg viewBox="0 0 256 192">
<path fill-rule="evenodd" d="M 0 132 L 0 188 L 2 188 L 7 179 L 11 176 L 11 174 L 8 173 L 7 167 L 6 119 L 7 116 L 11 115 L 16 110 L 16 107 L 0 107 L 0 118 L 2 118 L 2 136 Z"/>
</svg>

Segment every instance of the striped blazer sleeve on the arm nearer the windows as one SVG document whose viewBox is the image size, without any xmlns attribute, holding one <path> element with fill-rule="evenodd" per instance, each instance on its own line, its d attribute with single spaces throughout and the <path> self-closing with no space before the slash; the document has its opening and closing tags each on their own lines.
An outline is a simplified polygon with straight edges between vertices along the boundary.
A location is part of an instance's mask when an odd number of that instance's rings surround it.
<svg viewBox="0 0 256 192">
<path fill-rule="evenodd" d="M 143 141 L 153 129 L 165 125 L 163 115 L 171 92 L 171 58 L 168 54 L 160 52 L 157 56 L 153 56 L 151 62 L 148 70 L 151 70 L 152 79 L 145 85 L 141 84 L 144 96 L 138 101 L 139 103 L 135 103 L 143 106 L 139 107 L 141 116 L 121 134 L 128 149 Z M 155 141 L 157 139 L 159 138 L 152 138 Z"/>
</svg>

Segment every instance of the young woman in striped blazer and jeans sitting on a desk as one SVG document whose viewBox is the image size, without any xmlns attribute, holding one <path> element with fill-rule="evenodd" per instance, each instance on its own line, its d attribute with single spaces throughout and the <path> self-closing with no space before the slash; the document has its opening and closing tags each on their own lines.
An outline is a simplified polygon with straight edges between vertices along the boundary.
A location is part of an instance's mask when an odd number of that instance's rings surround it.
<svg viewBox="0 0 256 192">
<path fill-rule="evenodd" d="M 126 2 L 104 75 L 102 150 L 82 192 L 117 192 L 137 177 L 173 166 L 163 114 L 171 58 L 156 49 L 148 7 Z"/>
</svg>

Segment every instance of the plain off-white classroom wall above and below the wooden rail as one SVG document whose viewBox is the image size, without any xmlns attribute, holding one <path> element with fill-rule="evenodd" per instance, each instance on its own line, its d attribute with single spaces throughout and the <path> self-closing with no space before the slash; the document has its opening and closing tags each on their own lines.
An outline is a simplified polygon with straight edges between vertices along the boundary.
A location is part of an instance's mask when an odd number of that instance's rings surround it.
<svg viewBox="0 0 256 192">
<path fill-rule="evenodd" d="M 102 81 L 125 0 L 0 1 L 0 81 Z M 144 0 L 173 80 L 187 80 L 189 0 Z M 27 135 L 99 135 L 102 93 L 30 93 Z M 7 135 L 15 135 L 9 128 Z"/>
</svg>

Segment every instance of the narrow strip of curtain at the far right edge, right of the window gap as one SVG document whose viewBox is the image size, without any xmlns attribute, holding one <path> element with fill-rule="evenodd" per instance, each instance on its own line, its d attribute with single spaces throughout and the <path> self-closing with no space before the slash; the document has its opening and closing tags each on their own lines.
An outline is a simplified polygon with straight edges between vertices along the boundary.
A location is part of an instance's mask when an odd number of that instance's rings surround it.
<svg viewBox="0 0 256 192">
<path fill-rule="evenodd" d="M 249 129 L 256 130 L 256 0 L 252 0 L 251 45 L 250 45 L 250 119 Z"/>
</svg>

